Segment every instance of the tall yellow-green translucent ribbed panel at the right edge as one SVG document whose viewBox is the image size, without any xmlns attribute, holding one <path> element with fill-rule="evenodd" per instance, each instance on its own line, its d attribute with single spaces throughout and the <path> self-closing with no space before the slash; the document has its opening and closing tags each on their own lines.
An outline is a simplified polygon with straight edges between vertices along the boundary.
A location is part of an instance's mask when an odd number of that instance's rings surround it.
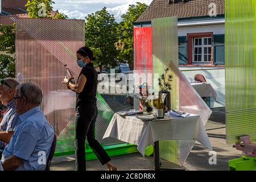
<svg viewBox="0 0 256 182">
<path fill-rule="evenodd" d="M 225 2 L 226 140 L 256 141 L 256 1 Z"/>
</svg>

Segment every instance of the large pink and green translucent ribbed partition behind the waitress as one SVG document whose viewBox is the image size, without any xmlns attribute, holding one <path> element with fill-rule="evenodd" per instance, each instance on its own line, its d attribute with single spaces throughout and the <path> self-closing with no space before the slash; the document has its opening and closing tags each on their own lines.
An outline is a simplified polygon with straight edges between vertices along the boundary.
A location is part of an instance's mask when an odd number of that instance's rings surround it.
<svg viewBox="0 0 256 182">
<path fill-rule="evenodd" d="M 84 46 L 84 20 L 19 18 L 15 21 L 18 81 L 31 81 L 42 88 L 41 109 L 57 135 L 55 155 L 73 154 L 76 94 L 61 81 L 65 64 L 75 78 L 81 71 L 76 63 L 76 51 Z M 111 138 L 102 140 L 114 112 L 100 94 L 97 94 L 97 106 L 96 138 L 104 146 L 121 144 Z M 86 149 L 88 152 L 89 148 Z"/>
</svg>

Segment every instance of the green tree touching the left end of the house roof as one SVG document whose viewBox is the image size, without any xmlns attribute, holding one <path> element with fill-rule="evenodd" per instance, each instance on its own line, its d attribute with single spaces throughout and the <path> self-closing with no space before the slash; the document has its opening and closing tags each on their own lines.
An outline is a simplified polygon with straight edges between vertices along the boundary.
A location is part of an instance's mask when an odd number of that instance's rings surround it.
<svg viewBox="0 0 256 182">
<path fill-rule="evenodd" d="M 118 32 L 119 35 L 121 35 L 122 42 L 125 42 L 126 45 L 125 48 L 119 52 L 118 60 L 127 60 L 129 63 L 133 63 L 133 22 L 143 14 L 147 7 L 145 3 L 137 2 L 136 5 L 129 5 L 127 13 L 121 16 L 123 20 L 119 23 Z"/>
</svg>

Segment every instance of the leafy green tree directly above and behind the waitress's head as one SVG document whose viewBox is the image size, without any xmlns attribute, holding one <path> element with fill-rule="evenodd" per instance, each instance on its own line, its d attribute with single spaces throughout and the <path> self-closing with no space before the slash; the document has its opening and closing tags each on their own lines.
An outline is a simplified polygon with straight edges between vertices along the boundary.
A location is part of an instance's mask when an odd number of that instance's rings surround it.
<svg viewBox="0 0 256 182">
<path fill-rule="evenodd" d="M 114 43 L 118 41 L 117 29 L 118 23 L 106 7 L 86 17 L 85 44 L 96 53 L 96 65 L 100 67 L 100 71 L 102 67 L 117 65 L 118 51 L 114 47 Z"/>
</svg>

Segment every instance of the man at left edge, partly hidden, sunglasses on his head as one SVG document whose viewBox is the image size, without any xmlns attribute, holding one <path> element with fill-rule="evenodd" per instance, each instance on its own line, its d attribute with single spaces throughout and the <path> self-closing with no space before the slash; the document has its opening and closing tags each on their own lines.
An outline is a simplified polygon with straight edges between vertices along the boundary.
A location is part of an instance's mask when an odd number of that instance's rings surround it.
<svg viewBox="0 0 256 182">
<path fill-rule="evenodd" d="M 0 124 L 0 158 L 7 143 L 10 142 L 14 134 L 19 116 L 15 110 L 15 101 L 13 99 L 15 88 L 19 85 L 14 78 L 5 78 L 0 80 L 0 100 L 7 106 Z"/>
</svg>

